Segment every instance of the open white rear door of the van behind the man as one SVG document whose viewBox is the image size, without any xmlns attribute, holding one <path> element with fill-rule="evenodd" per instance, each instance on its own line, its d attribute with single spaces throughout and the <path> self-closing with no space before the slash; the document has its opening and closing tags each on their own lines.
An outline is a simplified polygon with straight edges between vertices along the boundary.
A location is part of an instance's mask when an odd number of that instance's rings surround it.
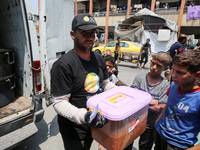
<svg viewBox="0 0 200 150">
<path fill-rule="evenodd" d="M 70 36 L 73 17 L 73 0 L 40 0 L 40 56 L 44 94 L 50 94 L 53 63 L 73 48 Z"/>
</svg>

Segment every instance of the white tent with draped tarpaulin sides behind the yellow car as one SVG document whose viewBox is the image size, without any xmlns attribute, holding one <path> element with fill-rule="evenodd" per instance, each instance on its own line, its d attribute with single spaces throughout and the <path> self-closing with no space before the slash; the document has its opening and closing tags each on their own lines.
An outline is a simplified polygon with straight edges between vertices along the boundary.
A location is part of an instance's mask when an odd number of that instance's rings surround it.
<svg viewBox="0 0 200 150">
<path fill-rule="evenodd" d="M 148 23 L 145 24 L 145 22 Z M 137 27 L 131 30 L 119 30 L 117 29 L 119 26 Z M 158 30 L 154 32 L 152 28 Z M 115 26 L 115 36 L 119 36 L 123 40 L 138 42 L 142 45 L 147 38 L 150 38 L 153 53 L 169 50 L 170 46 L 177 41 L 177 32 L 178 26 L 175 22 L 146 8 L 140 10 L 134 16 L 118 21 Z"/>
</svg>

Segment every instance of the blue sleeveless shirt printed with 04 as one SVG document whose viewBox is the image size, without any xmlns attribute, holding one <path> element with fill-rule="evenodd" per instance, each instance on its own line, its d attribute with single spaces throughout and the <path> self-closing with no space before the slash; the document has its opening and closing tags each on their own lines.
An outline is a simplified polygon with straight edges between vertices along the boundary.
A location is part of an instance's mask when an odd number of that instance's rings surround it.
<svg viewBox="0 0 200 150">
<path fill-rule="evenodd" d="M 200 88 L 181 93 L 172 82 L 164 115 L 155 128 L 169 144 L 193 147 L 200 132 Z"/>
</svg>

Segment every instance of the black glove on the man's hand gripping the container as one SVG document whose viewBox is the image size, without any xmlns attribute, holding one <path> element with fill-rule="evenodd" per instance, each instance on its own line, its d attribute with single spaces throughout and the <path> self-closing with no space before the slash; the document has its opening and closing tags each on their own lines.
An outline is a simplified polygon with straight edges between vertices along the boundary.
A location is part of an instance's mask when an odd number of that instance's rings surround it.
<svg viewBox="0 0 200 150">
<path fill-rule="evenodd" d="M 99 112 L 95 116 L 95 118 L 90 122 L 90 115 L 92 114 L 91 111 L 88 111 L 85 115 L 85 122 L 93 128 L 102 128 L 108 120 L 104 118 Z"/>
</svg>

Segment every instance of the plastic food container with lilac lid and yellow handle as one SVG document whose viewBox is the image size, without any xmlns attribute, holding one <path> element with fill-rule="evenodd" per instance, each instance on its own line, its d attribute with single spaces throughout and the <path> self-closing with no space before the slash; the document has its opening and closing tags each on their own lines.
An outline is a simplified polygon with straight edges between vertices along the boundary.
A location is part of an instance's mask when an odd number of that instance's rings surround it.
<svg viewBox="0 0 200 150">
<path fill-rule="evenodd" d="M 92 137 L 108 150 L 123 150 L 146 129 L 151 95 L 131 87 L 120 86 L 88 99 L 87 107 L 99 111 L 108 123 L 92 128 Z"/>
</svg>

